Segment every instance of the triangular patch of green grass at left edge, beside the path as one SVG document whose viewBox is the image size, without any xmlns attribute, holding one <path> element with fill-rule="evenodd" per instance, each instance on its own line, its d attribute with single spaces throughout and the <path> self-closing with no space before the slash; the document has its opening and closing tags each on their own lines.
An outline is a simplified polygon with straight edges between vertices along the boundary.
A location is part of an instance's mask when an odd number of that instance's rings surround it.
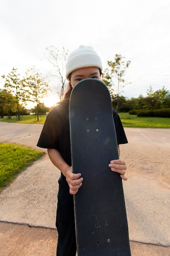
<svg viewBox="0 0 170 256">
<path fill-rule="evenodd" d="M 0 192 L 44 152 L 15 144 L 0 143 Z"/>
</svg>

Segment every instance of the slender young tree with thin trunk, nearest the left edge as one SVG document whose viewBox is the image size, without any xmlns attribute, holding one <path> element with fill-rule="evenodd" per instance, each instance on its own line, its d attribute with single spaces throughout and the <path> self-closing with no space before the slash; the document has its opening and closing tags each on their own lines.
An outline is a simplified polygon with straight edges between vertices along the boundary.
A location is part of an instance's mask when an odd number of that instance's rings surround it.
<svg viewBox="0 0 170 256">
<path fill-rule="evenodd" d="M 18 120 L 20 121 L 19 103 L 20 101 L 25 102 L 20 74 L 17 74 L 17 68 L 13 67 L 12 71 L 7 76 L 2 75 L 2 78 L 5 79 L 4 88 L 7 90 L 7 92 L 15 95 L 17 100 L 17 116 Z"/>
</svg>

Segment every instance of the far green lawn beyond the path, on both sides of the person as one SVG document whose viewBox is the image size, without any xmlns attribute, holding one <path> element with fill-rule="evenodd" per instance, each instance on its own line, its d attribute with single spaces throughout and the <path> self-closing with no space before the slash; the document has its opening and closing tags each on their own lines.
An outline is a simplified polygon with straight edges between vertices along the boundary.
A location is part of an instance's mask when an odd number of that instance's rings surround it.
<svg viewBox="0 0 170 256">
<path fill-rule="evenodd" d="M 170 128 L 170 118 L 163 117 L 137 117 L 128 113 L 119 113 L 120 119 L 124 127 L 140 127 L 140 128 Z M 39 121 L 34 115 L 23 116 L 22 120 L 16 120 L 16 117 L 8 120 L 6 117 L 0 119 L 1 122 L 9 123 L 25 123 L 25 124 L 44 124 L 46 115 L 39 116 Z"/>
</svg>

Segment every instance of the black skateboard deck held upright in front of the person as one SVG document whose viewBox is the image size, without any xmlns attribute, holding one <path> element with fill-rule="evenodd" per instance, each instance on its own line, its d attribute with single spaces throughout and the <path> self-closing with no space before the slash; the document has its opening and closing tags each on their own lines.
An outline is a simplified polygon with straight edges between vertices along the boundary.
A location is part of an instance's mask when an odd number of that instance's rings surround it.
<svg viewBox="0 0 170 256">
<path fill-rule="evenodd" d="M 73 173 L 83 177 L 74 195 L 78 256 L 130 256 L 122 179 L 108 167 L 119 156 L 107 86 L 97 79 L 78 82 L 69 117 Z"/>
</svg>

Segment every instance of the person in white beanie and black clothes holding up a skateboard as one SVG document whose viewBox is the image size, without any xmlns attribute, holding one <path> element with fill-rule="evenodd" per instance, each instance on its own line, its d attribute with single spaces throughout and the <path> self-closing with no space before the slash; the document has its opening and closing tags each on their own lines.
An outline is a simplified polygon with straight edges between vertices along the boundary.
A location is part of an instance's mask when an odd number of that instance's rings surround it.
<svg viewBox="0 0 170 256">
<path fill-rule="evenodd" d="M 92 47 L 81 45 L 70 54 L 66 64 L 68 89 L 63 100 L 48 114 L 37 144 L 39 147 L 48 149 L 51 162 L 61 171 L 56 218 L 59 234 L 57 256 L 76 255 L 73 195 L 83 186 L 81 173 L 72 173 L 69 127 L 70 93 L 78 81 L 87 78 L 100 79 L 101 74 L 101 59 Z M 120 155 L 119 144 L 127 143 L 127 139 L 120 118 L 114 110 L 113 119 Z M 111 171 L 120 173 L 123 180 L 127 180 L 124 160 L 111 159 L 109 167 Z"/>
</svg>

